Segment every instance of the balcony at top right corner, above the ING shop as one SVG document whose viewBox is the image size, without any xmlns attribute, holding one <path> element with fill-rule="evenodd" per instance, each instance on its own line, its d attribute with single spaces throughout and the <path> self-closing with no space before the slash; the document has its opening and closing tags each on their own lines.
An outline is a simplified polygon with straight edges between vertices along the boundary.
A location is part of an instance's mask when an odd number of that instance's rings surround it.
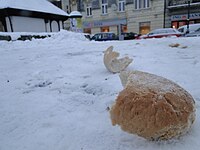
<svg viewBox="0 0 200 150">
<path fill-rule="evenodd" d="M 188 0 L 169 0 L 168 8 L 184 8 L 188 6 Z M 190 6 L 200 6 L 200 0 L 190 0 Z"/>
</svg>

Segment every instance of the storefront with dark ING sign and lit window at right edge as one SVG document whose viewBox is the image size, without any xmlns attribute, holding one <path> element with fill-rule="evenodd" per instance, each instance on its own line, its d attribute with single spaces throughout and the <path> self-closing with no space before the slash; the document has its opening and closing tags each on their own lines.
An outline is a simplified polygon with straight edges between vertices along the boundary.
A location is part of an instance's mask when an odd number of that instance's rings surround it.
<svg viewBox="0 0 200 150">
<path fill-rule="evenodd" d="M 200 23 L 200 13 L 191 13 L 190 14 L 190 24 Z M 186 25 L 188 22 L 188 15 L 173 15 L 171 16 L 171 27 L 179 28 L 183 25 Z"/>
</svg>

